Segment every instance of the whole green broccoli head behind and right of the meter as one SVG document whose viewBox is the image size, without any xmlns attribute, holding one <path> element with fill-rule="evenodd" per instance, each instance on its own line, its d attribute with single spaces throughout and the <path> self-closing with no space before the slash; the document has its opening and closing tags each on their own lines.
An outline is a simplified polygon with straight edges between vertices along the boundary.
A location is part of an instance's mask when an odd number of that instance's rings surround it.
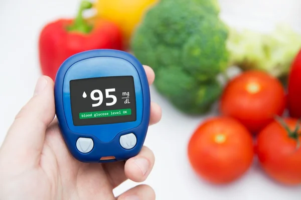
<svg viewBox="0 0 301 200">
<path fill-rule="evenodd" d="M 205 113 L 218 99 L 228 63 L 228 30 L 216 0 L 161 0 L 135 31 L 131 50 L 156 72 L 155 85 L 186 113 Z"/>
</svg>

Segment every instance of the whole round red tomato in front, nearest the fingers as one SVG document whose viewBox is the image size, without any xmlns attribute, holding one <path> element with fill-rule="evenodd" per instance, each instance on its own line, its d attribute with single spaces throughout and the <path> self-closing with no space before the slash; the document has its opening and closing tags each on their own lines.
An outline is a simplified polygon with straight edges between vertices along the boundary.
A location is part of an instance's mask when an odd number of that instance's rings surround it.
<svg viewBox="0 0 301 200">
<path fill-rule="evenodd" d="M 188 157 L 198 175 L 211 183 L 229 183 L 242 176 L 253 160 L 251 133 L 230 117 L 207 119 L 192 135 Z"/>
</svg>

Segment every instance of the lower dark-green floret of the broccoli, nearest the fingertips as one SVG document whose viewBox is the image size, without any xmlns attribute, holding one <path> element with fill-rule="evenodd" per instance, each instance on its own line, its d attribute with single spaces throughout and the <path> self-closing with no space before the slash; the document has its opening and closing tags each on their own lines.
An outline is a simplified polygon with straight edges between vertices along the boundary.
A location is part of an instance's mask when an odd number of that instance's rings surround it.
<svg viewBox="0 0 301 200">
<path fill-rule="evenodd" d="M 216 80 L 198 81 L 182 66 L 160 68 L 160 78 L 155 82 L 158 91 L 164 93 L 180 110 L 190 114 L 204 113 L 222 92 Z"/>
</svg>

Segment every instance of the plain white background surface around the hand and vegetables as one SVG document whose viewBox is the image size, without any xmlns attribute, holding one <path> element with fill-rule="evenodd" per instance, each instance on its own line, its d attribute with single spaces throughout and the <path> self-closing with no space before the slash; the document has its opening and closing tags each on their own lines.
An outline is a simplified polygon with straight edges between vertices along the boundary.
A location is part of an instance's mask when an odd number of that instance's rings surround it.
<svg viewBox="0 0 301 200">
<path fill-rule="evenodd" d="M 31 97 L 40 75 L 37 39 L 49 20 L 72 16 L 79 0 L 0 0 L 0 141 L 19 109 Z M 299 0 L 220 0 L 222 17 L 239 27 L 270 30 L 275 21 L 301 29 Z M 202 117 L 179 113 L 152 88 L 152 99 L 163 108 L 162 121 L 149 128 L 145 144 L 153 149 L 156 164 L 144 182 L 157 199 L 301 199 L 301 187 L 285 187 L 267 178 L 254 164 L 237 182 L 213 186 L 198 178 L 187 160 L 186 147 Z M 301 167 L 301 166 L 300 166 Z M 116 194 L 136 185 L 126 181 Z"/>
</svg>

